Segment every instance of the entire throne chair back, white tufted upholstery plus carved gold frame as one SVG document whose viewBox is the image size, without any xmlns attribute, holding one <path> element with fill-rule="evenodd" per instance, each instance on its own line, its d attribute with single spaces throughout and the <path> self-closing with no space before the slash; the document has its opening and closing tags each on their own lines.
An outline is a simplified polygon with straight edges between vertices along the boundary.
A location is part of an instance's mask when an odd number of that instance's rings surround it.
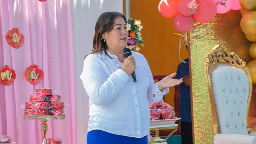
<svg viewBox="0 0 256 144">
<path fill-rule="evenodd" d="M 214 132 L 248 135 L 252 80 L 246 63 L 220 46 L 206 55 L 206 76 Z"/>
</svg>

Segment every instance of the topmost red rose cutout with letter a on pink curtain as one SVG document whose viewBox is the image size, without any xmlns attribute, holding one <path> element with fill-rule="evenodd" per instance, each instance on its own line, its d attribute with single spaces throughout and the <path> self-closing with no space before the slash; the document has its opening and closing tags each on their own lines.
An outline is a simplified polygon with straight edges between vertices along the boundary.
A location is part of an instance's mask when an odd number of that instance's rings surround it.
<svg viewBox="0 0 256 144">
<path fill-rule="evenodd" d="M 12 28 L 12 30 L 9 30 L 7 35 L 5 35 L 5 39 L 14 49 L 18 49 L 24 44 L 24 36 L 20 33 L 18 28 Z"/>
</svg>

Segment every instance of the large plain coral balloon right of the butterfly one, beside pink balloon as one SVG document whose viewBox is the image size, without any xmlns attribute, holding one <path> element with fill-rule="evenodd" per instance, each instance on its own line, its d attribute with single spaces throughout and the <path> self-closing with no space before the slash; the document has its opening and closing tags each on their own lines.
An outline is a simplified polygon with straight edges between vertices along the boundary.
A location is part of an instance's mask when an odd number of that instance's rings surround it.
<svg viewBox="0 0 256 144">
<path fill-rule="evenodd" d="M 199 23 L 208 23 L 212 21 L 217 14 L 217 7 L 213 0 L 197 0 L 197 10 L 196 14 L 193 14 L 192 17 L 194 20 Z"/>
</svg>

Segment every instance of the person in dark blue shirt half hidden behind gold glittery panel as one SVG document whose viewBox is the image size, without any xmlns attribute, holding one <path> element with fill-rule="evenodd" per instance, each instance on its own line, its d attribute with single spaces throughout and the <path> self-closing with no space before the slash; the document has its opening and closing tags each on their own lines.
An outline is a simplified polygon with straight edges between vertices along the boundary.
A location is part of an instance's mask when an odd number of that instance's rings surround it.
<svg viewBox="0 0 256 144">
<path fill-rule="evenodd" d="M 188 51 L 188 46 L 186 45 Z M 180 84 L 180 126 L 181 126 L 181 143 L 193 144 L 192 136 L 192 118 L 191 118 L 191 100 L 190 100 L 190 76 L 189 60 L 184 60 L 178 65 L 176 79 L 183 78 Z"/>
</svg>

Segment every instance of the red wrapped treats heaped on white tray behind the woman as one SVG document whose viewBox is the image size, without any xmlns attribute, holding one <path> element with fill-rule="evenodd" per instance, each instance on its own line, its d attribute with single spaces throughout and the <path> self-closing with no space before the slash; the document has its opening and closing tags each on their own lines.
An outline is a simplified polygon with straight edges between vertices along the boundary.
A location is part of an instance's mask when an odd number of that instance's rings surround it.
<svg viewBox="0 0 256 144">
<path fill-rule="evenodd" d="M 162 99 L 160 102 L 149 105 L 150 120 L 158 119 L 173 119 L 175 116 L 174 109 L 171 105 L 164 102 Z"/>
</svg>

